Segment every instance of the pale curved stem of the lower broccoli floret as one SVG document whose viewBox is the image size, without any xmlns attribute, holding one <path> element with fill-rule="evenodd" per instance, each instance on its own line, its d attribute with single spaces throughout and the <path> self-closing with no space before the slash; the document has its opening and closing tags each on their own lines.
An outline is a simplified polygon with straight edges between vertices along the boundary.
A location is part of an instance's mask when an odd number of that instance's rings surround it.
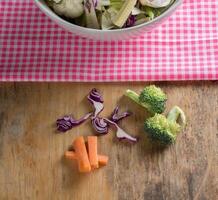
<svg viewBox="0 0 218 200">
<path fill-rule="evenodd" d="M 181 118 L 181 125 L 184 126 L 186 124 L 186 117 L 183 110 L 178 106 L 174 106 L 167 115 L 167 119 L 172 122 L 177 122 L 179 117 Z"/>
</svg>

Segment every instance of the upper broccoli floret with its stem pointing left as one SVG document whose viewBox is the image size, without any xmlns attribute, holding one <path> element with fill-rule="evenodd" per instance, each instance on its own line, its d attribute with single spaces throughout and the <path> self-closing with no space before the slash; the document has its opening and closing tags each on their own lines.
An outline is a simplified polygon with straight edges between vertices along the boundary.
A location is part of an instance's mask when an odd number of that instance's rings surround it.
<svg viewBox="0 0 218 200">
<path fill-rule="evenodd" d="M 127 90 L 125 95 L 153 114 L 165 110 L 167 96 L 155 85 L 145 87 L 139 95 L 132 90 Z"/>
</svg>

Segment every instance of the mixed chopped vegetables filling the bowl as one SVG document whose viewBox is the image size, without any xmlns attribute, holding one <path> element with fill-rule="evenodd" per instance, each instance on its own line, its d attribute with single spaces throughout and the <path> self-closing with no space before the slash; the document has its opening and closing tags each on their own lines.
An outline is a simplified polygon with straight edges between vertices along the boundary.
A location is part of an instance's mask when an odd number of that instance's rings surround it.
<svg viewBox="0 0 218 200">
<path fill-rule="evenodd" d="M 93 29 L 136 26 L 164 13 L 175 0 L 46 0 L 67 21 Z"/>
</svg>

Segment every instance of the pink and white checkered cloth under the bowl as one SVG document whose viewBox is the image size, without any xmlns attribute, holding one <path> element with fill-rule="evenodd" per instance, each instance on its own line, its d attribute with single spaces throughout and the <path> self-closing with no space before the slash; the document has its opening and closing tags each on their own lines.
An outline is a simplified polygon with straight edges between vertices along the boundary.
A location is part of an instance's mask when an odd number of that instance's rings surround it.
<svg viewBox="0 0 218 200">
<path fill-rule="evenodd" d="M 185 0 L 156 30 L 119 42 L 68 33 L 33 0 L 0 0 L 1 81 L 217 79 L 217 0 Z"/>
</svg>

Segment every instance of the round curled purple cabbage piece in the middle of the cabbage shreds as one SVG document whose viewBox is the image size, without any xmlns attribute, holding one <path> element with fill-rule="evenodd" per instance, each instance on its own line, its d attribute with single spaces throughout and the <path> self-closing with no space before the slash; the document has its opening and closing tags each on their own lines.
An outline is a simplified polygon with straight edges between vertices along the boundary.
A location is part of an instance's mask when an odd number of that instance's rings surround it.
<svg viewBox="0 0 218 200">
<path fill-rule="evenodd" d="M 108 133 L 108 123 L 101 117 L 92 118 L 92 125 L 98 135 L 105 135 Z"/>
</svg>

